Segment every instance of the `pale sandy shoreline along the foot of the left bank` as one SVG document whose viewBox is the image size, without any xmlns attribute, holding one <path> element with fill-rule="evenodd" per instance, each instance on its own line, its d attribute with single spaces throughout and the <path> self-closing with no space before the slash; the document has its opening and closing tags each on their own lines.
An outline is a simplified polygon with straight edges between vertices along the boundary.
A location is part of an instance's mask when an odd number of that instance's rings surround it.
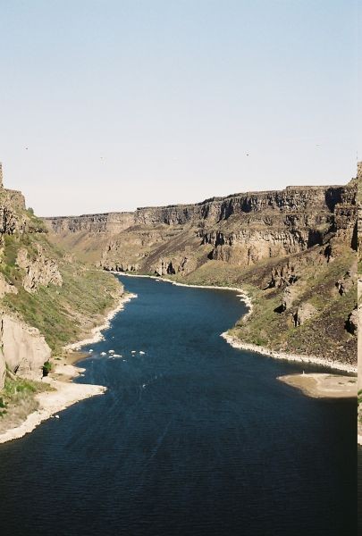
<svg viewBox="0 0 362 536">
<path fill-rule="evenodd" d="M 106 315 L 105 322 L 91 331 L 89 338 L 68 345 L 64 349 L 72 352 L 74 349 L 78 350 L 82 346 L 101 340 L 102 331 L 109 328 L 111 320 L 114 318 L 115 314 L 122 311 L 124 305 L 133 297 L 136 297 L 136 295 L 126 294 L 125 296 L 122 296 L 118 305 Z M 79 354 L 78 356 L 80 357 Z M 80 400 L 105 393 L 106 388 L 102 385 L 72 382 L 72 379 L 79 376 L 84 370 L 85 369 L 78 366 L 75 367 L 73 364 L 56 364 L 55 370 L 51 373 L 51 376 L 43 378 L 43 381 L 48 383 L 54 390 L 38 393 L 35 397 L 38 401 L 38 409 L 29 414 L 25 421 L 19 426 L 4 431 L 4 433 L 0 435 L 0 444 L 22 438 L 24 435 L 37 428 L 40 423 L 43 423 L 43 421 L 46 421 L 46 419 L 49 419 L 54 415 L 57 418 L 60 418 L 59 415 L 57 415 L 59 412 L 72 406 L 76 402 L 80 402 Z M 52 376 L 55 376 L 56 379 Z"/>
</svg>

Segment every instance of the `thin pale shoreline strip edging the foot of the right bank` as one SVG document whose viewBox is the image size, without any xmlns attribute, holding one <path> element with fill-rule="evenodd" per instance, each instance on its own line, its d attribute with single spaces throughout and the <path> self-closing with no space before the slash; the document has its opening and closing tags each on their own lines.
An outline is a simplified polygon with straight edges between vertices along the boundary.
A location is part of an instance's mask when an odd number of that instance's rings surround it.
<svg viewBox="0 0 362 536">
<path fill-rule="evenodd" d="M 251 301 L 251 298 L 248 296 L 248 293 L 244 289 L 240 289 L 237 287 L 216 287 L 213 285 L 188 285 L 185 283 L 179 283 L 178 281 L 164 279 L 164 278 L 153 276 L 153 275 L 136 275 L 136 274 L 125 273 L 125 272 L 112 272 L 112 273 L 115 273 L 118 275 L 126 275 L 127 277 L 147 277 L 150 279 L 156 279 L 156 280 L 158 279 L 159 281 L 172 283 L 173 285 L 177 285 L 179 287 L 189 287 L 189 288 L 194 288 L 194 289 L 234 290 L 234 291 L 239 292 L 239 296 L 241 297 L 241 300 L 245 302 L 246 306 L 248 306 L 248 313 L 243 316 L 243 321 L 245 321 L 248 318 L 248 316 L 252 313 L 252 310 L 253 310 L 253 303 Z M 326 368 L 330 368 L 336 371 L 357 374 L 357 366 L 353 366 L 351 364 L 344 364 L 338 361 L 327 360 L 327 359 L 324 359 L 323 357 L 317 357 L 317 356 L 277 352 L 275 350 L 271 350 L 266 347 L 257 346 L 255 344 L 250 344 L 248 342 L 242 342 L 240 339 L 237 339 L 236 337 L 230 335 L 228 331 L 224 331 L 221 334 L 221 337 L 223 337 L 223 339 L 225 339 L 226 342 L 230 344 L 233 348 L 240 348 L 242 350 L 248 350 L 249 352 L 255 352 L 257 354 L 262 354 L 263 356 L 273 357 L 274 359 L 283 359 L 286 361 L 294 361 L 297 363 L 319 364 L 321 366 L 324 366 Z"/>
</svg>

